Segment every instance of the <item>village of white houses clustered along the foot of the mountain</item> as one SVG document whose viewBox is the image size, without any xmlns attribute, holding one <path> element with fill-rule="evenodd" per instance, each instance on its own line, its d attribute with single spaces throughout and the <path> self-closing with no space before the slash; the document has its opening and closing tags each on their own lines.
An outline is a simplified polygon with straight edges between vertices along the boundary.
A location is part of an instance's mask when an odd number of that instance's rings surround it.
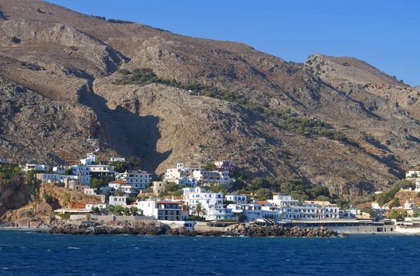
<svg viewBox="0 0 420 276">
<path fill-rule="evenodd" d="M 388 202 L 383 205 L 370 202 L 340 209 L 328 200 L 298 200 L 284 193 L 231 193 L 237 167 L 230 160 L 217 160 L 202 167 L 178 163 L 156 181 L 154 174 L 138 170 L 138 164 L 130 164 L 125 158 L 102 161 L 90 154 L 81 158 L 78 165 L 50 167 L 27 163 L 20 165 L 20 169 L 34 172 L 41 186 L 53 185 L 68 191 L 66 195 L 73 198 L 73 204 L 68 199 L 69 204 L 53 212 L 57 218 L 75 223 L 88 219 L 120 225 L 127 220 L 153 219 L 172 228 L 186 229 L 262 223 L 325 226 L 348 233 L 420 230 L 420 218 L 417 219 L 420 209 L 412 198 L 403 202 L 403 206 L 400 202 L 391 206 Z M 408 172 L 407 179 L 414 179 L 416 188 L 401 188 L 401 192 L 420 192 L 419 175 L 420 172 Z M 81 203 L 78 197 L 92 200 Z"/>
</svg>

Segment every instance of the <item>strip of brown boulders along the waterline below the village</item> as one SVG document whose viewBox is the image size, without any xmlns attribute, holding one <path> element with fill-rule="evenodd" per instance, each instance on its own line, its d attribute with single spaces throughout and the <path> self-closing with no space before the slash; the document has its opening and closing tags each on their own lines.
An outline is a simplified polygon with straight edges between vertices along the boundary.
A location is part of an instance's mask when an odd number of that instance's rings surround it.
<svg viewBox="0 0 420 276">
<path fill-rule="evenodd" d="M 64 224 L 54 226 L 50 234 L 66 235 L 173 235 L 173 236 L 244 236 L 244 237 L 337 237 L 338 233 L 330 229 L 320 228 L 283 228 L 279 225 L 261 226 L 258 224 L 234 224 L 223 230 L 186 230 L 184 228 L 170 228 L 158 221 L 130 222 L 125 226 L 105 226 L 100 223 L 85 223 L 78 226 Z"/>
</svg>

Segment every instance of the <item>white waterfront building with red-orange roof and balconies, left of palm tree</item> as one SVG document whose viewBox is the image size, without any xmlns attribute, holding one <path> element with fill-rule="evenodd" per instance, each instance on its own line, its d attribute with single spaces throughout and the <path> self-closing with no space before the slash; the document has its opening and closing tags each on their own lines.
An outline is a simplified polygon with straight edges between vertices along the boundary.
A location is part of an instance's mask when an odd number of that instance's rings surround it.
<svg viewBox="0 0 420 276">
<path fill-rule="evenodd" d="M 137 200 L 134 206 L 141 209 L 145 216 L 153 216 L 153 219 L 182 221 L 183 213 L 179 207 L 180 204 L 181 202 L 176 201 Z"/>
</svg>

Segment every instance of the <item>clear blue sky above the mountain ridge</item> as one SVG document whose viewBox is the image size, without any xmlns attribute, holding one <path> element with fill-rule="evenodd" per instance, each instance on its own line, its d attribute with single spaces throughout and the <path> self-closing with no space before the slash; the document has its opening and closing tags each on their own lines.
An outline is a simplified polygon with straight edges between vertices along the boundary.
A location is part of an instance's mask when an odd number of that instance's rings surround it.
<svg viewBox="0 0 420 276">
<path fill-rule="evenodd" d="M 286 61 L 351 56 L 420 85 L 420 1 L 48 0 L 80 13 L 237 41 Z"/>
</svg>

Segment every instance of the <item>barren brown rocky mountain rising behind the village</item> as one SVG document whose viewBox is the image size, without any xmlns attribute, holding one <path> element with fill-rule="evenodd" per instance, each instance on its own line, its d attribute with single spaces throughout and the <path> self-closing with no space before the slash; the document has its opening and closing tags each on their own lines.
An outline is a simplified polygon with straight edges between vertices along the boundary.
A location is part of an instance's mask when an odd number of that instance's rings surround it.
<svg viewBox="0 0 420 276">
<path fill-rule="evenodd" d="M 0 157 L 10 161 L 98 151 L 162 173 L 230 158 L 245 174 L 302 177 L 342 198 L 387 188 L 419 163 L 420 91 L 363 61 L 295 64 L 45 1 L 0 5 Z M 130 78 L 118 69 L 145 68 L 219 94 L 117 84 Z"/>
</svg>

